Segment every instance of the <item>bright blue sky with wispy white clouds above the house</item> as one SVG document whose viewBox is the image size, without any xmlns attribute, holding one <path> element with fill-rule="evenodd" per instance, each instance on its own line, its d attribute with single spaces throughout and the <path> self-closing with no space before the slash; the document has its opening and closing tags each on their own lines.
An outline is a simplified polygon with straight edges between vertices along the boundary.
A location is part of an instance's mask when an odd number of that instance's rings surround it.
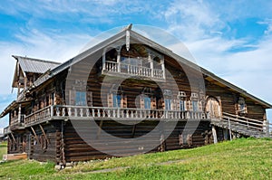
<svg viewBox="0 0 272 180">
<path fill-rule="evenodd" d="M 184 43 L 198 64 L 272 103 L 272 1 L 1 1 L 0 110 L 15 98 L 22 55 L 64 62 L 92 37 L 117 26 L 159 27 Z M 174 52 L 179 47 L 170 47 Z M 16 91 L 16 90 L 14 90 Z M 272 111 L 268 111 L 272 119 Z M 0 120 L 0 127 L 6 119 Z"/>
</svg>

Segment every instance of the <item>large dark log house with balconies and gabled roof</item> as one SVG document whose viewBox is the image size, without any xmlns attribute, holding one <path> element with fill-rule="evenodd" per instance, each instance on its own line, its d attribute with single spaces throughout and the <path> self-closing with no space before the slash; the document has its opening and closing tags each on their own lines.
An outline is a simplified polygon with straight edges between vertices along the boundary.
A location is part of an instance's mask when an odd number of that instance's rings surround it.
<svg viewBox="0 0 272 180">
<path fill-rule="evenodd" d="M 66 164 L 269 133 L 270 104 L 131 26 L 62 64 L 13 57 L 8 154 Z"/>
</svg>

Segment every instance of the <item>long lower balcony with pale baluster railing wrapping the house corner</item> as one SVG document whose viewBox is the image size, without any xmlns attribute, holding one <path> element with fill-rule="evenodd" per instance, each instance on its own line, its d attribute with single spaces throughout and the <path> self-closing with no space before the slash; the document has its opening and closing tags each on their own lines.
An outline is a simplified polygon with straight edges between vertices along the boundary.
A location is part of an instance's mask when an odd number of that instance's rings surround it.
<svg viewBox="0 0 272 180">
<path fill-rule="evenodd" d="M 121 109 L 108 107 L 83 107 L 54 105 L 40 109 L 24 119 L 25 127 L 33 126 L 52 119 L 113 119 L 118 120 L 180 120 L 207 119 L 209 114 L 204 112 L 164 110 L 164 109 Z"/>
</svg>

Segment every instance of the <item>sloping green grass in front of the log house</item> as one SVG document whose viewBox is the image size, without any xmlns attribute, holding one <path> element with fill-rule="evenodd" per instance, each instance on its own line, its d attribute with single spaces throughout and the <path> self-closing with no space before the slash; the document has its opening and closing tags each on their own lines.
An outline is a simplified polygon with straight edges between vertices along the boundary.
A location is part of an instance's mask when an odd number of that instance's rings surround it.
<svg viewBox="0 0 272 180">
<path fill-rule="evenodd" d="M 0 165 L 0 179 L 271 179 L 271 153 L 272 140 L 241 138 L 207 147 L 79 163 L 59 172 L 50 162 L 7 162 Z M 126 168 L 92 173 L 114 167 Z"/>
</svg>

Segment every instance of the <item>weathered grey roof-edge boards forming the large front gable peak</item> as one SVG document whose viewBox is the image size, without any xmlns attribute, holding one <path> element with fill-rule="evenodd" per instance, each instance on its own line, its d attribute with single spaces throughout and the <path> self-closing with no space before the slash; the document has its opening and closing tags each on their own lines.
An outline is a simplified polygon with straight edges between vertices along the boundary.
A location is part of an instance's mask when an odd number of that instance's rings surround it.
<svg viewBox="0 0 272 180">
<path fill-rule="evenodd" d="M 181 62 L 183 64 L 186 64 L 187 66 L 189 66 L 193 70 L 200 71 L 204 75 L 208 76 L 210 79 L 212 79 L 214 81 L 218 81 L 220 86 L 228 87 L 228 89 L 230 89 L 230 90 L 236 91 L 236 92 L 240 93 L 241 95 L 248 97 L 249 99 L 253 99 L 253 100 L 257 101 L 257 103 L 264 106 L 265 108 L 272 109 L 272 105 L 267 103 L 266 101 L 264 101 L 262 99 L 258 99 L 257 97 L 249 94 L 246 90 L 242 90 L 242 89 L 238 88 L 237 86 L 231 84 L 230 82 L 224 81 L 223 79 L 219 78 L 218 76 L 216 76 L 212 72 L 199 67 L 199 65 L 197 65 L 193 62 L 189 62 L 188 60 L 180 57 L 176 53 L 170 51 L 168 48 L 160 45 L 159 43 L 155 43 L 155 42 L 151 41 L 150 39 L 142 36 L 140 33 L 136 33 L 134 31 L 132 31 L 131 24 L 127 28 L 124 28 L 120 33 L 116 33 L 115 35 L 106 39 L 102 43 L 98 43 L 98 44 L 92 46 L 90 49 L 86 50 L 85 52 L 82 52 L 82 53 L 78 54 L 77 56 L 73 57 L 69 61 L 63 62 L 63 64 L 56 66 L 55 68 L 53 68 L 53 70 L 50 71 L 50 73 L 44 74 L 44 77 L 42 79 L 35 81 L 34 86 L 35 87 L 39 86 L 44 81 L 49 80 L 50 78 L 52 78 L 54 75 L 58 74 L 59 72 L 71 67 L 73 64 L 82 61 L 84 58 L 92 55 L 94 52 L 101 51 L 102 48 L 107 47 L 107 46 L 111 45 L 112 43 L 118 42 L 119 40 L 121 40 L 121 38 L 125 38 L 126 31 L 130 31 L 131 38 L 133 38 L 137 42 L 147 44 L 147 45 L 151 46 L 152 48 L 156 49 L 157 51 L 170 56 L 174 60 Z"/>
</svg>

